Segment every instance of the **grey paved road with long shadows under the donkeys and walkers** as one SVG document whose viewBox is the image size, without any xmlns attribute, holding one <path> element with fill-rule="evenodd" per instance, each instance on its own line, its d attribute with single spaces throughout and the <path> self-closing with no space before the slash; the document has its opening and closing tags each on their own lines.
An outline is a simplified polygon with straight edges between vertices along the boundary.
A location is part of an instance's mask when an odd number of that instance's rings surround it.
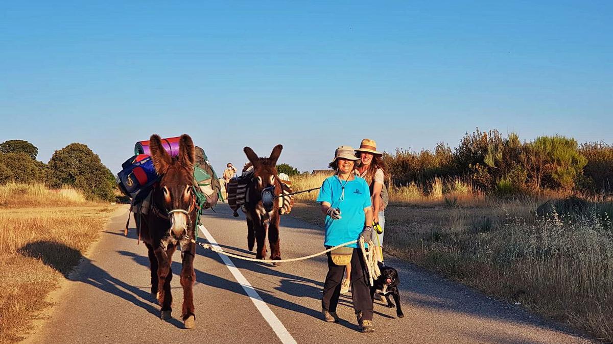
<svg viewBox="0 0 613 344">
<path fill-rule="evenodd" d="M 244 216 L 226 204 L 206 212 L 210 235 L 228 252 L 246 250 Z M 405 318 L 375 304 L 376 332 L 357 332 L 351 298 L 341 297 L 339 324 L 321 320 L 326 275 L 323 256 L 278 267 L 226 259 L 199 247 L 196 257 L 196 329 L 177 318 L 159 319 L 149 293 L 147 250 L 135 231 L 123 236 L 127 208 L 115 212 L 101 241 L 63 287 L 50 319 L 28 338 L 31 343 L 581 343 L 585 339 L 520 308 L 495 301 L 412 264 L 389 257 L 402 280 Z M 322 249 L 322 230 L 295 218 L 281 220 L 284 258 Z M 201 235 L 200 240 L 205 236 Z M 180 255 L 175 253 L 173 316 L 180 316 Z M 237 269 L 230 271 L 227 263 Z M 242 280 L 242 285 L 237 282 Z M 250 286 L 249 286 L 250 285 Z M 250 297 L 250 296 L 252 297 Z M 258 299 L 261 298 L 263 302 Z"/>
</svg>

